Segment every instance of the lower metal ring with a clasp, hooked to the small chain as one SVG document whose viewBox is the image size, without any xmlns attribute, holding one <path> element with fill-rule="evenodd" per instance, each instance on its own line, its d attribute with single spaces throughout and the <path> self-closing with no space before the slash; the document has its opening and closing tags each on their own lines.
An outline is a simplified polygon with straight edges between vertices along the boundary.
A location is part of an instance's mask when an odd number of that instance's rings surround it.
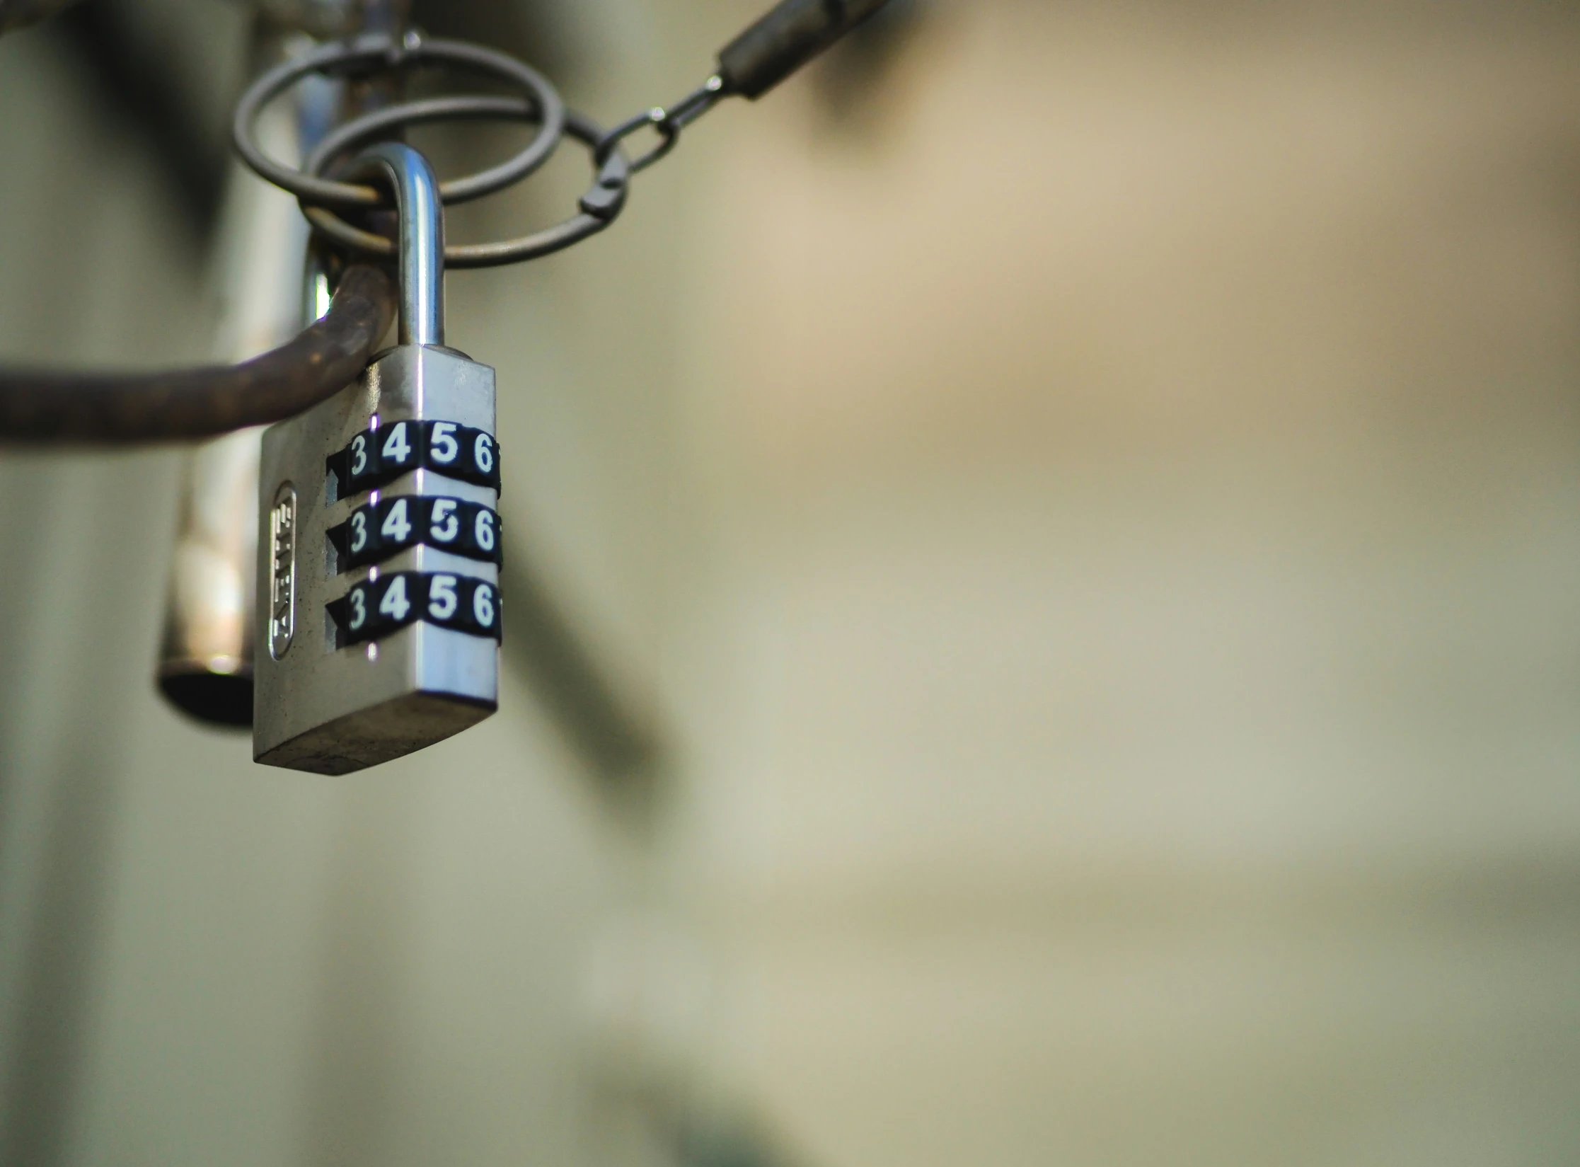
<svg viewBox="0 0 1580 1167">
<path fill-rule="evenodd" d="M 520 98 L 444 98 L 446 117 L 501 117 L 501 119 L 520 119 L 520 120 L 536 120 L 537 111 L 526 101 Z M 434 106 L 438 103 L 433 103 Z M 412 103 L 412 106 L 428 106 L 428 103 Z M 431 109 L 431 108 L 430 108 Z M 393 114 L 395 111 L 387 111 Z M 338 134 L 341 134 L 341 147 L 351 145 L 357 136 L 362 133 L 373 133 L 368 123 L 378 114 L 368 114 L 357 122 L 348 122 L 341 127 Z M 433 114 L 438 117 L 438 114 Z M 430 119 L 431 120 L 431 119 Z M 566 111 L 566 133 L 570 138 L 588 145 L 589 150 L 597 152 L 599 145 L 604 142 L 604 128 L 589 117 L 572 111 Z M 351 130 L 357 133 L 349 133 Z M 387 125 L 381 128 L 389 128 Z M 327 164 L 329 157 L 324 155 L 322 147 L 314 150 L 318 164 Z M 460 247 L 444 248 L 444 266 L 453 269 L 465 267 L 499 267 L 504 264 L 523 262 L 526 259 L 539 259 L 545 255 L 553 255 L 555 251 L 564 250 L 572 244 L 580 244 L 583 239 L 596 236 L 599 231 L 607 228 L 626 206 L 626 194 L 630 187 L 630 160 L 623 150 L 618 149 L 618 142 L 613 144 L 605 158 L 594 158 L 597 168 L 597 179 L 592 188 L 581 196 L 581 213 L 575 215 L 559 226 L 548 228 L 547 231 L 539 231 L 531 236 L 523 236 L 521 239 L 507 239 L 498 244 L 463 244 Z M 395 255 L 395 244 L 392 244 L 384 236 L 373 234 L 371 231 L 360 231 L 351 226 L 346 220 L 335 215 L 325 207 L 308 206 L 303 201 L 303 213 L 313 223 L 313 226 L 322 234 L 333 239 L 337 244 L 348 247 L 354 251 L 363 251 L 367 255 L 376 255 L 390 258 Z"/>
</svg>

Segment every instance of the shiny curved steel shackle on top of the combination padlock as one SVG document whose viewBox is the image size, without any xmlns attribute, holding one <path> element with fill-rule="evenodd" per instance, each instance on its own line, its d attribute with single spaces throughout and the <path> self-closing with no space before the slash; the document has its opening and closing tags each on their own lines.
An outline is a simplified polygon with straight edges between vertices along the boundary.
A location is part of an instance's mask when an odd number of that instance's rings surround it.
<svg viewBox="0 0 1580 1167">
<path fill-rule="evenodd" d="M 400 343 L 444 343 L 444 204 L 439 179 L 420 152 L 379 142 L 356 157 L 351 172 L 382 169 L 395 187 L 400 215 Z"/>
</svg>

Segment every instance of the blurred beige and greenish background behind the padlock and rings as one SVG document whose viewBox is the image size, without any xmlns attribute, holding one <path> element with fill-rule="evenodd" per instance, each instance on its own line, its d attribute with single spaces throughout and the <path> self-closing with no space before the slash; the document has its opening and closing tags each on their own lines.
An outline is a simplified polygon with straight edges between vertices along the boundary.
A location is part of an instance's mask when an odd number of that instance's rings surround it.
<svg viewBox="0 0 1580 1167">
<path fill-rule="evenodd" d="M 613 120 L 755 11 L 544 27 Z M 198 359 L 88 87 L 0 41 L 0 353 Z M 1580 1162 L 1572 6 L 937 0 L 450 329 L 656 761 L 517 648 L 256 769 L 150 683 L 177 455 L 5 454 L 0 1162 Z"/>
</svg>

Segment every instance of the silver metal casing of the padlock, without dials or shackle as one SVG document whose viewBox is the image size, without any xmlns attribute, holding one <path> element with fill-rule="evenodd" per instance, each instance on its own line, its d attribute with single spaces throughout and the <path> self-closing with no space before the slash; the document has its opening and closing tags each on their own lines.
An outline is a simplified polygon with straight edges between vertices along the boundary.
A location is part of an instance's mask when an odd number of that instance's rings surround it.
<svg viewBox="0 0 1580 1167">
<path fill-rule="evenodd" d="M 337 648 L 325 606 L 370 576 L 447 572 L 498 590 L 495 565 L 428 546 L 337 574 L 329 531 L 373 495 L 341 497 L 325 460 L 357 433 L 401 421 L 496 433 L 495 370 L 453 349 L 401 345 L 337 397 L 264 433 L 253 721 L 253 757 L 264 765 L 352 773 L 442 742 L 498 708 L 493 639 L 414 623 L 373 644 Z M 373 493 L 499 504 L 496 490 L 433 470 L 414 470 Z"/>
</svg>

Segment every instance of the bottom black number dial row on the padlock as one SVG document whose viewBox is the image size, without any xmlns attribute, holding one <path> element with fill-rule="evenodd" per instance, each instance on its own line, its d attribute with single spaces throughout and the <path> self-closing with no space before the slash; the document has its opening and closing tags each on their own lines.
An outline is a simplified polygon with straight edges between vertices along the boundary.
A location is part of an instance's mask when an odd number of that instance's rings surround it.
<svg viewBox="0 0 1580 1167">
<path fill-rule="evenodd" d="M 329 604 L 340 647 L 381 640 L 417 621 L 502 640 L 499 588 L 469 576 L 400 571 L 357 584 Z"/>
</svg>

